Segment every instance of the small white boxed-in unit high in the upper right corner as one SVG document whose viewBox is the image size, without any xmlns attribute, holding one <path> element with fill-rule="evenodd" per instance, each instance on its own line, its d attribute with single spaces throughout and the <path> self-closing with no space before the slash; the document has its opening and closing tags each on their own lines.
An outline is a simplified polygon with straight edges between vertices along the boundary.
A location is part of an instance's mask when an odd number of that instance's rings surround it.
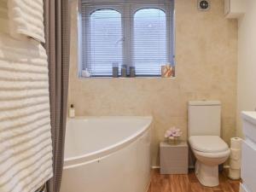
<svg viewBox="0 0 256 192">
<path fill-rule="evenodd" d="M 237 19 L 246 12 L 245 0 L 224 0 L 224 15 L 228 19 Z"/>
</svg>

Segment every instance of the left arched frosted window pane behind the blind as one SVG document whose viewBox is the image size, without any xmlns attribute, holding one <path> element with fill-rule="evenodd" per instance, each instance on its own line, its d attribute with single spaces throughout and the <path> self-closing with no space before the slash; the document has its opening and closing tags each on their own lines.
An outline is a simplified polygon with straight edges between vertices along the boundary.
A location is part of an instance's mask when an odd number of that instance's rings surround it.
<svg viewBox="0 0 256 192">
<path fill-rule="evenodd" d="M 112 73 L 113 62 L 122 63 L 123 34 L 121 14 L 113 9 L 99 9 L 90 15 L 89 60 L 86 67 L 93 76 Z"/>
</svg>

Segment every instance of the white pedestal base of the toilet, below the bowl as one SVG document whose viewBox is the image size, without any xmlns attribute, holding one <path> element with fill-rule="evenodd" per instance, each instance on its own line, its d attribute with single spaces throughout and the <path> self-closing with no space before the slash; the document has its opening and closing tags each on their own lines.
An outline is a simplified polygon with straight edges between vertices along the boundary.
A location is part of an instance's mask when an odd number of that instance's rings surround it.
<svg viewBox="0 0 256 192">
<path fill-rule="evenodd" d="M 196 160 L 195 176 L 198 178 L 199 182 L 204 186 L 218 186 L 218 165 L 207 166 L 201 163 L 199 160 Z"/>
</svg>

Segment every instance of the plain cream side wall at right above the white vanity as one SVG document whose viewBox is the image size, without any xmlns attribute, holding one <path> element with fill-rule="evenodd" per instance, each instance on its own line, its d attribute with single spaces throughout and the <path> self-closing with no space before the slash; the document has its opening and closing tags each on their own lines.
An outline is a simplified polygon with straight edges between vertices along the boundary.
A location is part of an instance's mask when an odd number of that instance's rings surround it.
<svg viewBox="0 0 256 192">
<path fill-rule="evenodd" d="M 246 0 L 247 13 L 238 25 L 237 135 L 242 137 L 241 111 L 256 108 L 256 1 Z"/>
</svg>

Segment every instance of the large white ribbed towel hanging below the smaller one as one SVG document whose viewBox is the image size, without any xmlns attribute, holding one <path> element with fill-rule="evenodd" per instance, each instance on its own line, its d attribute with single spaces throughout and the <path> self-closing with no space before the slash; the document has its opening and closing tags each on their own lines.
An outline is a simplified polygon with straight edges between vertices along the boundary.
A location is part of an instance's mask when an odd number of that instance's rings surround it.
<svg viewBox="0 0 256 192">
<path fill-rule="evenodd" d="M 44 47 L 0 34 L 0 191 L 34 192 L 52 177 Z"/>
</svg>

